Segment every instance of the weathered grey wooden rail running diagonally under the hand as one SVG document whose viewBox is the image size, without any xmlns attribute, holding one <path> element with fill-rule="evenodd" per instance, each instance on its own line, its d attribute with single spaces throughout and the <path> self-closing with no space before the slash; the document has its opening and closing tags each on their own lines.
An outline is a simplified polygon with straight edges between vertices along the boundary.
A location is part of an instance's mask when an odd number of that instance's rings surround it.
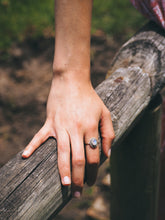
<svg viewBox="0 0 165 220">
<path fill-rule="evenodd" d="M 164 86 L 164 48 L 165 32 L 154 23 L 148 23 L 122 46 L 113 60 L 108 78 L 96 88 L 112 115 L 116 134 L 112 158 L 115 158 L 115 149 L 120 149 L 125 137 Z M 101 161 L 104 160 L 101 153 Z M 70 199 L 70 187 L 60 183 L 57 144 L 52 138 L 29 159 L 23 160 L 20 152 L 0 169 L 2 220 L 45 220 L 58 213 Z M 112 219 L 125 219 L 115 215 Z"/>
</svg>

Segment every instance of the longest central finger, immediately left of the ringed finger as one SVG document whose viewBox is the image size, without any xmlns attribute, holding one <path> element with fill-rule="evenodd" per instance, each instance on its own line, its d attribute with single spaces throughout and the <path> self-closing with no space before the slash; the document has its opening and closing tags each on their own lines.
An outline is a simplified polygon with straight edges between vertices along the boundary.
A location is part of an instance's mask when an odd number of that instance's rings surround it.
<svg viewBox="0 0 165 220">
<path fill-rule="evenodd" d="M 79 198 L 82 194 L 85 172 L 85 154 L 83 136 L 72 135 L 72 195 Z"/>
</svg>

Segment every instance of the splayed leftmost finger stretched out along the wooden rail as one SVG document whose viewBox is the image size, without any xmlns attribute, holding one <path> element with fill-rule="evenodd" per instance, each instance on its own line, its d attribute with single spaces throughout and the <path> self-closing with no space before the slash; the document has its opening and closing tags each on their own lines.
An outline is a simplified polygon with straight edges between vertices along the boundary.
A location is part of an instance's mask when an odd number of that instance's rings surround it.
<svg viewBox="0 0 165 220">
<path fill-rule="evenodd" d="M 30 157 L 33 152 L 42 144 L 44 143 L 50 136 L 50 127 L 46 124 L 38 131 L 38 133 L 33 137 L 30 143 L 24 149 L 22 153 L 23 158 Z"/>
</svg>

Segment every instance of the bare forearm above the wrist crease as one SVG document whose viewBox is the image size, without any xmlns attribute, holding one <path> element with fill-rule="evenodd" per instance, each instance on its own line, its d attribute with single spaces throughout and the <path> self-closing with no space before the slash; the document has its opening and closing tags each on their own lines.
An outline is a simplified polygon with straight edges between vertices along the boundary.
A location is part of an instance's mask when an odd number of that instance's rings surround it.
<svg viewBox="0 0 165 220">
<path fill-rule="evenodd" d="M 55 76 L 90 79 L 91 15 L 92 0 L 55 0 Z"/>
</svg>

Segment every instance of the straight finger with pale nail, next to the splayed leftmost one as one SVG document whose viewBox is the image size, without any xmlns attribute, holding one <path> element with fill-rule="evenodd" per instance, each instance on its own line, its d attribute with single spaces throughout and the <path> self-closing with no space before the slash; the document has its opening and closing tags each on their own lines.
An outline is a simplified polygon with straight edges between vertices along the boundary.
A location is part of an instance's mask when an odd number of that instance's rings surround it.
<svg viewBox="0 0 165 220">
<path fill-rule="evenodd" d="M 57 132 L 58 168 L 63 185 L 71 184 L 70 141 L 66 131 Z"/>
</svg>

